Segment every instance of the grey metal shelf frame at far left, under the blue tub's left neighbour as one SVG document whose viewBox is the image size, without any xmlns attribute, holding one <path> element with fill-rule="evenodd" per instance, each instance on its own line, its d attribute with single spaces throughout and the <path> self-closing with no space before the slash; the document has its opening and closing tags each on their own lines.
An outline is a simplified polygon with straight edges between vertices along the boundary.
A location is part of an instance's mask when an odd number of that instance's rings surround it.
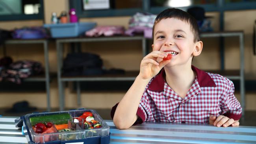
<svg viewBox="0 0 256 144">
<path fill-rule="evenodd" d="M 35 40 L 20 40 L 12 39 L 7 40 L 5 44 L 43 44 L 44 57 L 45 57 L 45 76 L 33 76 L 24 81 L 45 81 L 46 94 L 47 94 L 47 111 L 51 110 L 50 107 L 50 75 L 49 75 L 49 58 L 48 58 L 48 40 L 47 39 L 35 39 Z"/>
</svg>

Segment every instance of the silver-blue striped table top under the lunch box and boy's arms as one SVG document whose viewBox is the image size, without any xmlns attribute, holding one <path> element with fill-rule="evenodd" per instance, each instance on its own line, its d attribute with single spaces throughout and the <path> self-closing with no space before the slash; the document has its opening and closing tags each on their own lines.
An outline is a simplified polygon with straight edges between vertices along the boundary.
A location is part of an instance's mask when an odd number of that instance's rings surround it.
<svg viewBox="0 0 256 144">
<path fill-rule="evenodd" d="M 17 117 L 0 117 L 0 144 L 27 143 L 14 120 Z M 112 120 L 105 120 L 110 127 L 110 144 L 227 144 L 256 143 L 256 127 L 215 127 L 209 125 L 146 122 L 129 129 L 117 129 Z"/>
</svg>

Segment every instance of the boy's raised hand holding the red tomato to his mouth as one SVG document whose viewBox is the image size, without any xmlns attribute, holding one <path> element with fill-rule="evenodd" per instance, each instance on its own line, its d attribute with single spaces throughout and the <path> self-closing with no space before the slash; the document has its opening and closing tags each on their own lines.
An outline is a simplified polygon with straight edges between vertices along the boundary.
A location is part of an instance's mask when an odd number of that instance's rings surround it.
<svg viewBox="0 0 256 144">
<path fill-rule="evenodd" d="M 158 58 L 163 59 L 164 57 L 167 57 L 167 54 L 161 51 L 153 51 L 146 55 L 141 61 L 139 76 L 143 79 L 151 79 L 156 76 L 163 66 L 171 61 L 165 60 L 160 63 L 156 61 Z"/>
</svg>

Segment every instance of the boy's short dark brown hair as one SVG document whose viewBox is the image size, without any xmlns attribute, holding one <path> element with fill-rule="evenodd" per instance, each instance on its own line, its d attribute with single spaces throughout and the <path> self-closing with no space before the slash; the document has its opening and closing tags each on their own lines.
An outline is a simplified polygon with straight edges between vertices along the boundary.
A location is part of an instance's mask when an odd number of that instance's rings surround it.
<svg viewBox="0 0 256 144">
<path fill-rule="evenodd" d="M 194 35 L 194 42 L 200 41 L 200 34 L 199 34 L 199 28 L 197 25 L 197 20 L 189 15 L 186 11 L 182 11 L 181 9 L 176 9 L 176 8 L 169 8 L 165 9 L 161 13 L 159 13 L 155 19 L 154 26 L 153 26 L 153 31 L 152 31 L 152 36 L 154 39 L 154 28 L 155 25 L 160 22 L 162 19 L 166 18 L 177 18 L 179 20 L 185 21 L 190 25 L 190 30 L 192 31 Z"/>
</svg>

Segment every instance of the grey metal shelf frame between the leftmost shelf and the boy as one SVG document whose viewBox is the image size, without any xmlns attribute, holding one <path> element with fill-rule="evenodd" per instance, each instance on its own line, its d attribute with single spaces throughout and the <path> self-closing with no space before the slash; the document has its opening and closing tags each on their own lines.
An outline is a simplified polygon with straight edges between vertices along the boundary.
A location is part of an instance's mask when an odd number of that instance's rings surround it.
<svg viewBox="0 0 256 144">
<path fill-rule="evenodd" d="M 61 69 L 63 66 L 63 44 L 69 42 L 99 42 L 99 41 L 134 41 L 139 40 L 142 42 L 142 56 L 144 57 L 147 54 L 146 49 L 146 39 L 143 36 L 119 36 L 119 37 L 82 37 L 82 38 L 65 38 L 65 39 L 57 39 L 56 40 L 56 48 L 57 48 L 57 75 L 58 75 L 58 90 L 59 90 L 59 110 L 63 111 L 64 109 L 64 98 L 65 98 L 65 82 L 66 81 L 76 81 L 77 84 L 77 95 L 78 95 L 78 106 L 81 105 L 81 95 L 80 95 L 80 81 L 133 81 L 137 72 L 126 72 L 124 75 L 103 75 L 98 77 L 93 76 L 76 76 L 76 77 L 62 77 Z"/>
</svg>

